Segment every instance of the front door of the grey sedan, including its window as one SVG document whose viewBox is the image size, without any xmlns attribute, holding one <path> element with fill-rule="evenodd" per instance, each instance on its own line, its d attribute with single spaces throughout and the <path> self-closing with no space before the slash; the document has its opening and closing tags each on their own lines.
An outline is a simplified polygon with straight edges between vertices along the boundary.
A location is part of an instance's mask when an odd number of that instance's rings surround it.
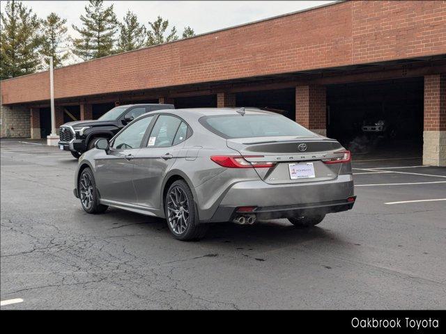
<svg viewBox="0 0 446 334">
<path fill-rule="evenodd" d="M 109 150 L 96 159 L 95 178 L 102 200 L 136 202 L 132 182 L 134 157 L 152 120 L 153 116 L 148 116 L 132 122 L 112 139 Z"/>
</svg>

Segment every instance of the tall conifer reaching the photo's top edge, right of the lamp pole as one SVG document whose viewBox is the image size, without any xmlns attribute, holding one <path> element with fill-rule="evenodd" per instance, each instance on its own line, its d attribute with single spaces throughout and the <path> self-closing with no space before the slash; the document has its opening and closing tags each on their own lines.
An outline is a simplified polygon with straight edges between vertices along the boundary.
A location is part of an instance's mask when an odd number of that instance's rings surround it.
<svg viewBox="0 0 446 334">
<path fill-rule="evenodd" d="M 114 53 L 118 20 L 113 5 L 105 8 L 102 0 L 90 0 L 85 6 L 85 16 L 81 15 L 82 26 L 75 29 L 81 36 L 72 39 L 72 52 L 84 61 L 108 56 Z"/>
</svg>

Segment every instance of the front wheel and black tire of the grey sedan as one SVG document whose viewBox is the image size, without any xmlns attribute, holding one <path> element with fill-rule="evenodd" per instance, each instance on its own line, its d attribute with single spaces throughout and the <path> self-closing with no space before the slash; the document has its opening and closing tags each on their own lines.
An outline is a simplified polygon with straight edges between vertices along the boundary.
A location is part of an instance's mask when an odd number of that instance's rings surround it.
<svg viewBox="0 0 446 334">
<path fill-rule="evenodd" d="M 108 205 L 102 205 L 99 201 L 98 189 L 96 189 L 95 177 L 90 168 L 82 170 L 77 182 L 77 191 L 82 208 L 89 214 L 102 214 Z"/>
</svg>

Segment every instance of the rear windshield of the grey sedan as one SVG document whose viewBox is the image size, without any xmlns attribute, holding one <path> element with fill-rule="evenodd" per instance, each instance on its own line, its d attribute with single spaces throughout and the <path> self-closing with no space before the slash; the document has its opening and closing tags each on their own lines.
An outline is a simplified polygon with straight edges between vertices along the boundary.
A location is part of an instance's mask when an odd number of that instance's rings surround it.
<svg viewBox="0 0 446 334">
<path fill-rule="evenodd" d="M 219 115 L 199 119 L 201 124 L 223 138 L 265 136 L 314 136 L 313 132 L 280 115 Z"/>
</svg>

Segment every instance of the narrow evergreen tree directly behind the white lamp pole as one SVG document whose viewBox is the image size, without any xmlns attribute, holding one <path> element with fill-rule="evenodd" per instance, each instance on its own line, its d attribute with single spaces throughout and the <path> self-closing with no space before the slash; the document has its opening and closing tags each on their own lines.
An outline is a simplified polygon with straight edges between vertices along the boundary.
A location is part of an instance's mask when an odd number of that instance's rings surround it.
<svg viewBox="0 0 446 334">
<path fill-rule="evenodd" d="M 40 53 L 44 56 L 44 61 L 49 65 L 49 59 L 47 57 L 53 57 L 54 67 L 63 65 L 63 61 L 66 61 L 69 54 L 66 51 L 66 33 L 68 31 L 66 27 L 66 19 L 61 19 L 56 13 L 51 13 L 46 19 L 42 21 L 43 36 L 42 36 L 42 49 Z"/>
</svg>

